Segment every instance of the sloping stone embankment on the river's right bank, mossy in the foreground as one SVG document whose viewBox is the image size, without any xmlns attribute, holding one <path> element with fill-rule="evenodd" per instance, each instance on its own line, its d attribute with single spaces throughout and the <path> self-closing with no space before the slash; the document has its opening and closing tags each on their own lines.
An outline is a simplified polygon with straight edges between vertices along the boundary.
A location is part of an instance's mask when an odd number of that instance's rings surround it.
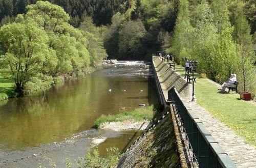
<svg viewBox="0 0 256 168">
<path fill-rule="evenodd" d="M 176 124 L 174 111 L 166 105 L 168 90 L 176 87 L 179 94 L 187 97 L 190 85 L 172 68 L 158 57 L 153 57 L 158 97 L 165 106 L 162 113 L 149 129 L 124 153 L 118 167 L 176 167 L 181 164 L 187 167 L 179 128 Z M 172 111 L 172 112 L 170 112 Z M 155 154 L 154 154 L 155 153 Z"/>
</svg>

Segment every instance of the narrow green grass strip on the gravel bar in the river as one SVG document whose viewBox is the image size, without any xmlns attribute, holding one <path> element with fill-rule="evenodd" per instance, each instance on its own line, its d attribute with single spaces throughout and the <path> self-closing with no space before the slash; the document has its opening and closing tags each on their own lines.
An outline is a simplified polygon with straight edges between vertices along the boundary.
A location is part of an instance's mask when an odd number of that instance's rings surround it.
<svg viewBox="0 0 256 168">
<path fill-rule="evenodd" d="M 148 106 L 136 108 L 133 111 L 125 111 L 117 115 L 109 115 L 109 116 L 103 115 L 95 121 L 94 127 L 98 128 L 101 123 L 105 123 L 105 122 L 117 122 L 117 121 L 122 122 L 126 120 L 134 120 L 134 121 L 154 120 L 157 117 L 156 111 L 158 111 L 158 109 L 160 109 L 159 105 L 148 105 Z"/>
</svg>

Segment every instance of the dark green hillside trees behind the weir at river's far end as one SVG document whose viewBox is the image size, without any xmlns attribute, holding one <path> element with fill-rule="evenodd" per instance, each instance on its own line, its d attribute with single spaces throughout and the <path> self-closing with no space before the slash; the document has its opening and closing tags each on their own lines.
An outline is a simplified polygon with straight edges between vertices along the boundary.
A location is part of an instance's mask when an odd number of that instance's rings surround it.
<svg viewBox="0 0 256 168">
<path fill-rule="evenodd" d="M 153 52 L 168 48 L 168 36 L 174 29 L 178 2 L 177 0 L 126 1 L 121 6 L 122 14 L 117 13 L 113 16 L 112 25 L 105 32 L 104 46 L 109 57 L 122 60 L 150 59 Z M 119 21 L 117 22 L 116 19 L 113 21 L 114 18 L 118 18 Z M 142 24 L 139 26 L 138 32 L 131 27 L 140 24 L 137 19 L 143 23 L 143 27 Z M 127 27 L 131 30 L 127 30 Z M 127 35 L 129 32 L 130 35 Z M 132 32 L 135 34 L 132 35 Z M 128 42 L 127 37 L 131 37 L 132 41 Z"/>
</svg>

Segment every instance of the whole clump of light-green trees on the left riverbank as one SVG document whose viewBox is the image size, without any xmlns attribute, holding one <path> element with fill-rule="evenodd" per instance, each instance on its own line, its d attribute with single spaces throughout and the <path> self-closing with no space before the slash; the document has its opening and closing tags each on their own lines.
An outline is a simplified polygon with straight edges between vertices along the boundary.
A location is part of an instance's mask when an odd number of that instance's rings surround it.
<svg viewBox="0 0 256 168">
<path fill-rule="evenodd" d="M 0 29 L 1 68 L 16 92 L 46 91 L 58 76 L 87 73 L 106 58 L 100 28 L 92 20 L 83 22 L 90 29 L 78 30 L 57 5 L 37 1 L 26 9 L 26 14 Z"/>
</svg>

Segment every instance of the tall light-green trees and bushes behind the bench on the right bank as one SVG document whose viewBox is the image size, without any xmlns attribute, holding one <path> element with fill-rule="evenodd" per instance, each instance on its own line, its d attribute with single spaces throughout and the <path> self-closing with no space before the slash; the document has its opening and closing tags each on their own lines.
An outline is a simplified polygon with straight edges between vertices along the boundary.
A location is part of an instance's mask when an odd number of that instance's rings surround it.
<svg viewBox="0 0 256 168">
<path fill-rule="evenodd" d="M 255 55 L 244 5 L 240 0 L 212 0 L 210 5 L 205 0 L 181 0 L 171 46 L 166 51 L 177 53 L 177 61 L 185 57 L 197 60 L 199 73 L 221 83 L 236 73 L 243 82 L 240 89 L 243 86 L 254 94 L 255 77 L 250 74 Z"/>
</svg>

